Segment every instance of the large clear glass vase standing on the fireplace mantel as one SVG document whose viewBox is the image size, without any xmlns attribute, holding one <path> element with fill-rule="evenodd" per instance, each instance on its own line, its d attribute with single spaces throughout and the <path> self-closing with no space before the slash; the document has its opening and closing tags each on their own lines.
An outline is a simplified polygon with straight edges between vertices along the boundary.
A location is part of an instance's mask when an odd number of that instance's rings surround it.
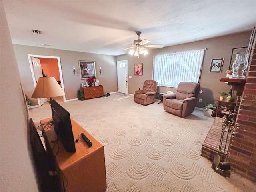
<svg viewBox="0 0 256 192">
<path fill-rule="evenodd" d="M 236 54 L 236 60 L 233 63 L 233 73 L 230 75 L 230 79 L 245 79 L 244 71 L 248 66 L 249 54 Z"/>
</svg>

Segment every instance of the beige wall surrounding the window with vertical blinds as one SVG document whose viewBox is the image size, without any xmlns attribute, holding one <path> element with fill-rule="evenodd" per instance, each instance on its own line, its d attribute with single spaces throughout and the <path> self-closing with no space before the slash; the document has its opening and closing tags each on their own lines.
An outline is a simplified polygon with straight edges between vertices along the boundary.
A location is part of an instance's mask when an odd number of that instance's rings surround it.
<svg viewBox="0 0 256 192">
<path fill-rule="evenodd" d="M 186 44 L 180 44 L 176 46 L 168 46 L 164 48 L 158 48 L 154 50 L 148 50 L 149 54 L 146 56 L 140 56 L 140 58 L 135 56 L 130 56 L 129 54 L 117 56 L 117 60 L 127 60 L 129 75 L 132 78 L 129 80 L 129 93 L 134 94 L 135 90 L 143 86 L 143 82 L 147 79 L 152 79 L 153 74 L 153 55 L 169 54 L 173 52 L 183 52 L 188 50 L 198 50 L 203 48 L 208 48 L 205 51 L 202 73 L 200 79 L 201 89 L 203 93 L 198 96 L 202 98 L 202 103 L 197 103 L 197 107 L 203 108 L 206 103 L 213 104 L 215 98 L 219 97 L 219 92 L 228 92 L 230 86 L 224 82 L 220 82 L 220 78 L 226 77 L 226 70 L 228 70 L 230 65 L 230 59 L 233 48 L 246 47 L 250 40 L 249 32 L 242 32 L 237 34 L 232 34 L 228 36 L 221 36 L 217 38 L 210 38 L 206 40 L 201 40 L 197 42 L 191 42 Z M 170 37 L 171 38 L 171 37 Z M 212 59 L 224 58 L 223 68 L 221 73 L 209 73 L 210 64 Z M 133 68 L 134 64 L 143 63 L 143 76 L 134 76 Z M 166 88 L 160 87 L 158 92 L 166 92 L 171 90 L 175 92 L 176 88 Z"/>
</svg>

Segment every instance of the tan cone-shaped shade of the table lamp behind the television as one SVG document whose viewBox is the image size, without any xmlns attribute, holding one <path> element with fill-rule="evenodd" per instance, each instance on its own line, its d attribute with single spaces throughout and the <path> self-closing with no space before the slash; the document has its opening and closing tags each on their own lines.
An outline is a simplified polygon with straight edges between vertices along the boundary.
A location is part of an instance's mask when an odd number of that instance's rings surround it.
<svg viewBox="0 0 256 192">
<path fill-rule="evenodd" d="M 31 98 L 52 98 L 65 95 L 54 77 L 40 77 Z"/>
</svg>

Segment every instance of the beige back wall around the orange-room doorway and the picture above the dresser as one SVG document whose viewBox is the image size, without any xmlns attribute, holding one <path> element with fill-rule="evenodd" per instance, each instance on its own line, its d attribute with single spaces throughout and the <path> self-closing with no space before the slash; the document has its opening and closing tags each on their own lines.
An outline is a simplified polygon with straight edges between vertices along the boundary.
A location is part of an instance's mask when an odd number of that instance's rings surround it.
<svg viewBox="0 0 256 192">
<path fill-rule="evenodd" d="M 60 57 L 66 100 L 77 98 L 76 92 L 80 88 L 81 82 L 86 82 L 86 80 L 81 80 L 80 78 L 78 60 L 95 61 L 96 77 L 100 81 L 100 84 L 104 86 L 104 93 L 117 91 L 116 56 L 16 44 L 13 46 L 20 76 L 22 78 L 22 84 L 24 84 L 24 92 L 29 98 L 31 98 L 34 91 L 34 84 L 28 61 L 28 54 Z M 76 66 L 76 76 L 73 72 L 73 66 Z M 101 74 L 99 72 L 99 67 L 102 68 Z M 32 105 L 38 104 L 36 99 L 31 100 L 33 102 Z"/>
</svg>

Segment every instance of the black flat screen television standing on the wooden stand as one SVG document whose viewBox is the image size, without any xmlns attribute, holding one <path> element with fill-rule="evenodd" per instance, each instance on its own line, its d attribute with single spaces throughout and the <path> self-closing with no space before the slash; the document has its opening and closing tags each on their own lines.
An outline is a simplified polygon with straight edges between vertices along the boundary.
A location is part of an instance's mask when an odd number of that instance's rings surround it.
<svg viewBox="0 0 256 192">
<path fill-rule="evenodd" d="M 53 125 L 58 139 L 67 152 L 76 152 L 69 112 L 55 100 L 51 102 Z"/>
</svg>

